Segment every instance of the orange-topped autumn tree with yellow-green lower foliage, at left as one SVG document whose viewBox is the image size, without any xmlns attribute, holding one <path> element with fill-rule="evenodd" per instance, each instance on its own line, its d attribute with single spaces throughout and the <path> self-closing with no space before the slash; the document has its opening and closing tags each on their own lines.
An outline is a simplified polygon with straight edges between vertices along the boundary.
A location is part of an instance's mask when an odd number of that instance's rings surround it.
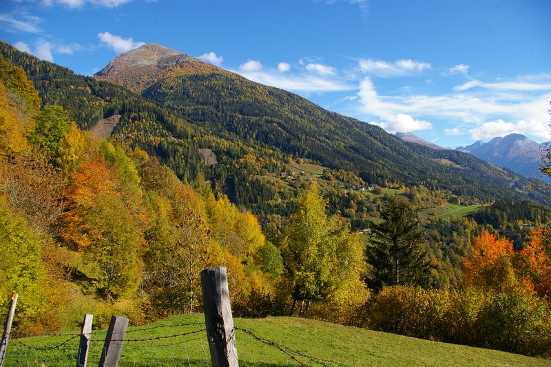
<svg viewBox="0 0 551 367">
<path fill-rule="evenodd" d="M 61 214 L 61 239 L 97 265 L 94 285 L 106 300 L 132 294 L 141 279 L 143 237 L 121 191 L 116 174 L 96 158 L 72 176 Z"/>
</svg>

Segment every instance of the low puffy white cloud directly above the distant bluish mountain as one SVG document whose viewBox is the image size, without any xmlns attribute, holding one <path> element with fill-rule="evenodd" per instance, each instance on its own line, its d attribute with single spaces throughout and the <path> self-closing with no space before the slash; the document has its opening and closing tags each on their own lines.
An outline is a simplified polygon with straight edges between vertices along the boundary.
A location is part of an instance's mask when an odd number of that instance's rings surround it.
<svg viewBox="0 0 551 367">
<path fill-rule="evenodd" d="M 469 130 L 473 139 L 494 138 L 508 134 L 532 134 L 545 140 L 549 140 L 551 129 L 548 123 L 539 120 L 519 120 L 517 123 L 506 123 L 498 119 L 484 123 L 479 127 Z"/>
</svg>

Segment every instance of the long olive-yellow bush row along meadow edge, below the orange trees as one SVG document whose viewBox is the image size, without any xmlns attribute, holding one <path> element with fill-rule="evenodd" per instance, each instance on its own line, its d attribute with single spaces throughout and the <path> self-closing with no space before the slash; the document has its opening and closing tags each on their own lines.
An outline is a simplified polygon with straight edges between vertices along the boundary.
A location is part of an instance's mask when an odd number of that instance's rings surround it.
<svg viewBox="0 0 551 367">
<path fill-rule="evenodd" d="M 521 290 L 382 289 L 368 311 L 378 331 L 442 342 L 551 356 L 551 310 L 545 300 Z"/>
</svg>

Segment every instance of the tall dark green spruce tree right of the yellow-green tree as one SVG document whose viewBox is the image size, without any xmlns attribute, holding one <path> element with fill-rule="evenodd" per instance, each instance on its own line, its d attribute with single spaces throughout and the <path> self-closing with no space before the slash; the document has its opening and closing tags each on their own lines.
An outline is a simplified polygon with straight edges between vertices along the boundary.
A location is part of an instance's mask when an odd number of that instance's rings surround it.
<svg viewBox="0 0 551 367">
<path fill-rule="evenodd" d="M 394 196 L 386 200 L 381 218 L 384 222 L 372 227 L 366 247 L 366 261 L 371 265 L 368 286 L 374 291 L 393 285 L 427 286 L 430 264 L 415 211 Z"/>
</svg>

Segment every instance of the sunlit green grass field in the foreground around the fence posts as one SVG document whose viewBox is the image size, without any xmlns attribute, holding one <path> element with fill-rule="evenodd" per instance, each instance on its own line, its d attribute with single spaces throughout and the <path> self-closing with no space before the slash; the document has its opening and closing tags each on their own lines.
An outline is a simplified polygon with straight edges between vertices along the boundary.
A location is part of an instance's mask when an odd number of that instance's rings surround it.
<svg viewBox="0 0 551 367">
<path fill-rule="evenodd" d="M 173 316 L 148 326 L 130 328 L 120 366 L 209 366 L 209 347 L 203 325 L 150 328 L 202 322 L 202 315 Z M 455 344 L 431 342 L 388 333 L 369 331 L 295 317 L 235 319 L 236 326 L 252 331 L 283 346 L 311 357 L 340 362 L 329 366 L 551 366 L 551 361 Z M 134 332 L 132 331 L 134 330 Z M 190 331 L 198 333 L 178 335 Z M 30 346 L 55 346 L 70 336 L 22 339 Z M 96 331 L 88 366 L 97 366 L 105 331 Z M 236 331 L 240 366 L 300 366 L 278 348 L 262 344 L 242 331 Z M 5 366 L 75 366 L 78 338 L 54 350 L 33 350 L 11 340 Z M 306 366 L 320 366 L 305 357 L 297 357 Z"/>
</svg>

